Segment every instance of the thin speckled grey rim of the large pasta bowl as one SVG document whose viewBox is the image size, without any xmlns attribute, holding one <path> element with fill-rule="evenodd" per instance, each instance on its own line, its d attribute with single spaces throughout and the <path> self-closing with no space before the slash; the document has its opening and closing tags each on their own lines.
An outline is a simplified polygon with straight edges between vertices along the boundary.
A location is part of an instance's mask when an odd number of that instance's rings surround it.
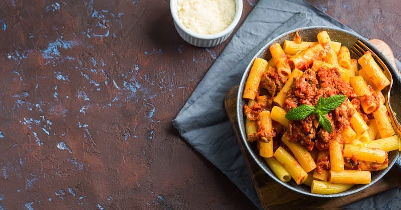
<svg viewBox="0 0 401 210">
<path fill-rule="evenodd" d="M 296 28 L 296 29 L 292 29 L 289 30 L 285 33 L 282 33 L 281 35 L 273 38 L 272 40 L 268 41 L 265 45 L 263 45 L 262 47 L 260 47 L 260 49 L 254 54 L 254 56 L 250 59 L 247 67 L 245 68 L 243 75 L 241 77 L 241 82 L 239 84 L 239 88 L 238 88 L 238 92 L 237 92 L 237 101 L 236 101 L 236 115 L 237 115 L 237 125 L 239 127 L 239 131 L 240 131 L 240 137 L 241 137 L 241 141 L 243 142 L 243 144 L 246 147 L 246 152 L 248 152 L 248 154 L 252 157 L 253 161 L 255 161 L 257 163 L 257 165 L 265 172 L 267 173 L 270 178 L 274 179 L 276 182 L 280 183 L 282 186 L 296 191 L 298 193 L 304 194 L 304 195 L 308 195 L 308 196 L 313 196 L 313 197 L 322 197 L 322 198 L 334 198 L 334 197 L 342 197 L 342 196 L 346 196 L 346 195 L 351 195 L 357 192 L 360 192 L 368 187 L 370 187 L 371 185 L 373 185 L 374 183 L 376 183 L 378 180 L 380 180 L 395 164 L 396 161 L 392 161 L 388 164 L 388 167 L 384 170 L 381 170 L 381 174 L 379 174 L 377 176 L 377 178 L 375 180 L 372 180 L 369 184 L 364 184 L 363 186 L 356 188 L 356 189 L 348 189 L 344 192 L 340 192 L 340 193 L 336 193 L 336 194 L 314 194 L 311 192 L 307 192 L 307 191 L 303 191 L 297 188 L 294 188 L 293 186 L 289 185 L 286 182 L 281 181 L 280 179 L 277 178 L 277 176 L 270 172 L 270 168 L 268 168 L 268 166 L 266 165 L 265 162 L 263 162 L 261 160 L 261 157 L 259 157 L 259 154 L 256 154 L 253 152 L 253 148 L 252 148 L 252 144 L 249 143 L 246 139 L 246 134 L 245 134 L 245 125 L 242 123 L 243 119 L 243 99 L 242 99 L 242 93 L 243 93 L 243 88 L 245 85 L 245 81 L 246 78 L 248 77 L 250 68 L 252 66 L 252 62 L 256 57 L 260 57 L 261 53 L 263 51 L 265 51 L 267 49 L 268 46 L 270 46 L 271 44 L 277 42 L 279 39 L 283 38 L 284 36 L 290 35 L 292 33 L 295 34 L 296 31 L 301 31 L 301 30 L 310 30 L 310 29 L 316 29 L 316 30 L 335 30 L 338 32 L 342 32 L 342 33 L 346 33 L 350 36 L 354 36 L 355 38 L 359 39 L 360 41 L 362 41 L 366 46 L 368 46 L 374 53 L 376 53 L 384 62 L 384 64 L 390 69 L 391 72 L 396 72 L 395 68 L 392 66 L 392 64 L 389 62 L 389 60 L 385 57 L 385 55 L 377 49 L 377 47 L 375 47 L 373 44 L 371 44 L 368 39 L 366 39 L 365 37 L 355 33 L 355 32 L 350 32 L 341 28 L 337 28 L 337 27 L 330 27 L 330 26 L 307 26 L 307 27 L 300 27 L 300 28 Z M 282 44 L 282 43 L 280 43 Z M 392 151 L 393 152 L 393 151 Z M 395 154 L 395 160 L 398 158 L 399 156 L 399 152 L 396 152 Z M 291 180 L 292 181 L 292 180 Z"/>
</svg>

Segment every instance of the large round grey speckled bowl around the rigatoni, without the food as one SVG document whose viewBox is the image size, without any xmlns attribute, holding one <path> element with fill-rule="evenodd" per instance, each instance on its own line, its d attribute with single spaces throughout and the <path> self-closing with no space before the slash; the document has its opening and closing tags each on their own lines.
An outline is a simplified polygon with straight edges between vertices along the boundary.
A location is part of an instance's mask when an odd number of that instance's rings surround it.
<svg viewBox="0 0 401 210">
<path fill-rule="evenodd" d="M 332 28 L 332 27 L 304 27 L 304 28 L 298 28 L 295 30 L 288 31 L 271 41 L 269 41 L 266 45 L 261 47 L 261 49 L 254 55 L 252 61 L 249 63 L 247 68 L 244 71 L 244 74 L 241 78 L 241 82 L 239 84 L 239 90 L 237 93 L 237 104 L 236 104 L 236 114 L 237 114 L 237 119 L 238 119 L 238 126 L 240 130 L 240 135 L 241 135 L 241 140 L 243 141 L 246 152 L 250 154 L 252 157 L 253 161 L 257 163 L 257 165 L 266 173 L 268 174 L 272 179 L 275 181 L 279 182 L 281 185 L 284 187 L 287 187 L 288 189 L 291 189 L 293 191 L 296 191 L 301 194 L 309 195 L 309 196 L 314 196 L 314 197 L 326 197 L 326 198 L 332 198 L 332 197 L 341 197 L 341 196 L 346 196 L 350 194 L 354 194 L 357 192 L 360 192 L 370 186 L 372 186 L 374 183 L 376 183 L 378 180 L 380 180 L 395 164 L 399 152 L 398 150 L 393 150 L 388 152 L 388 167 L 386 167 L 383 170 L 379 171 L 372 171 L 371 172 L 371 181 L 370 183 L 367 184 L 355 184 L 351 188 L 339 192 L 339 193 L 333 193 L 333 194 L 316 194 L 311 192 L 311 188 L 309 186 L 303 185 L 303 184 L 297 184 L 294 180 L 291 180 L 289 182 L 283 182 L 281 181 L 276 174 L 269 168 L 268 164 L 265 161 L 265 158 L 259 155 L 259 150 L 257 148 L 257 143 L 256 142 L 249 142 L 247 140 L 247 133 L 246 133 L 246 123 L 245 123 L 245 117 L 244 117 L 244 105 L 247 104 L 247 100 L 243 99 L 243 93 L 244 93 L 244 88 L 246 85 L 246 80 L 249 76 L 249 73 L 252 68 L 253 61 L 256 58 L 262 58 L 265 60 L 270 60 L 272 58 L 272 55 L 269 51 L 269 47 L 275 43 L 279 43 L 281 46 L 283 45 L 285 40 L 294 40 L 294 36 L 296 32 L 300 35 L 302 38 L 302 41 L 317 41 L 316 35 L 321 32 L 321 31 L 327 31 L 329 34 L 331 41 L 336 41 L 336 42 L 341 42 L 343 46 L 348 47 L 351 49 L 355 43 L 358 41 L 365 46 L 367 46 L 372 53 L 377 55 L 377 58 L 381 60 L 382 65 L 385 65 L 386 68 L 390 71 L 389 74 L 386 74 L 386 77 L 389 78 L 390 81 L 392 81 L 392 77 L 395 77 L 396 75 L 396 69 L 392 66 L 392 64 L 389 62 L 389 60 L 374 46 L 372 45 L 366 38 L 353 33 L 349 32 L 346 30 L 342 29 L 337 29 L 337 28 Z M 355 53 L 350 53 L 351 58 L 353 59 L 358 59 L 359 56 Z M 398 79 L 398 77 L 396 77 Z M 392 85 L 392 83 L 391 83 Z M 386 87 L 386 89 L 383 89 L 384 95 L 387 95 L 386 91 L 389 91 L 391 88 L 391 85 Z M 389 101 L 390 98 L 388 98 Z M 391 107 L 387 107 L 387 110 L 392 114 L 392 111 L 397 112 L 398 110 L 391 110 Z M 396 127 L 396 119 L 394 118 L 395 121 L 393 121 L 393 127 L 397 131 Z M 398 133 L 398 131 L 396 132 Z"/>
</svg>

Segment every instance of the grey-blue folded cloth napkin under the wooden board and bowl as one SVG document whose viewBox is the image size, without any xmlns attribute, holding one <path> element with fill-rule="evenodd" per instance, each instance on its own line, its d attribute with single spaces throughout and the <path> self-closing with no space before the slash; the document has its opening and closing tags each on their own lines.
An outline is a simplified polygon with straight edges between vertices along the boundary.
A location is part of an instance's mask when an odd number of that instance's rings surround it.
<svg viewBox="0 0 401 210">
<path fill-rule="evenodd" d="M 180 135 L 258 208 L 261 204 L 225 112 L 224 97 L 240 83 L 246 66 L 263 45 L 281 33 L 304 26 L 331 26 L 351 31 L 304 0 L 259 0 L 172 121 Z M 398 193 L 393 190 L 385 195 L 386 199 L 396 198 Z M 369 206 L 388 204 L 373 203 Z"/>
</svg>

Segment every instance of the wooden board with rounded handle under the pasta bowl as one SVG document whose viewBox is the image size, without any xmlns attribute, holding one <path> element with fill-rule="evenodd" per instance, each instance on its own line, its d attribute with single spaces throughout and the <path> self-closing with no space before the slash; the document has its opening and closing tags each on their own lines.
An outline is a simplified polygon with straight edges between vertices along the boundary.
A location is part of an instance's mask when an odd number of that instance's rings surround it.
<svg viewBox="0 0 401 210">
<path fill-rule="evenodd" d="M 380 49 L 383 54 L 386 55 L 387 58 L 394 64 L 394 66 L 396 66 L 391 48 L 388 47 L 385 42 L 377 39 L 372 39 L 371 43 L 373 43 L 378 49 Z M 224 105 L 234 133 L 237 136 L 237 142 L 244 156 L 245 163 L 247 165 L 248 171 L 252 178 L 252 182 L 263 208 L 337 208 L 378 194 L 388 189 L 401 187 L 401 178 L 399 178 L 401 176 L 401 169 L 396 166 L 393 167 L 382 179 L 377 181 L 371 187 L 368 187 L 361 192 L 344 197 L 311 197 L 300 194 L 298 192 L 294 192 L 282 186 L 281 184 L 271 179 L 265 172 L 263 172 L 263 170 L 255 163 L 255 161 L 252 160 L 251 156 L 246 151 L 244 143 L 242 142 L 240 137 L 239 127 L 237 125 L 235 108 L 237 102 L 237 91 L 238 86 L 235 86 L 229 92 L 227 92 L 224 100 Z"/>
</svg>

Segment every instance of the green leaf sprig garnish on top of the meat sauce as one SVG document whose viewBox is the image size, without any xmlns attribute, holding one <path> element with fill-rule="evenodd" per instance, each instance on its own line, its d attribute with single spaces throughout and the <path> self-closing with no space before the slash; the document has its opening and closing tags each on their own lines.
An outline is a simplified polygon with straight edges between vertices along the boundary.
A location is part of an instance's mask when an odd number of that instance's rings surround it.
<svg viewBox="0 0 401 210">
<path fill-rule="evenodd" d="M 340 106 L 346 98 L 347 96 L 345 95 L 334 95 L 328 98 L 320 97 L 315 107 L 306 104 L 300 105 L 288 111 L 285 118 L 289 120 L 301 120 L 305 119 L 310 114 L 316 114 L 319 117 L 319 124 L 327 130 L 327 132 L 331 133 L 333 128 L 326 114 Z"/>
</svg>

